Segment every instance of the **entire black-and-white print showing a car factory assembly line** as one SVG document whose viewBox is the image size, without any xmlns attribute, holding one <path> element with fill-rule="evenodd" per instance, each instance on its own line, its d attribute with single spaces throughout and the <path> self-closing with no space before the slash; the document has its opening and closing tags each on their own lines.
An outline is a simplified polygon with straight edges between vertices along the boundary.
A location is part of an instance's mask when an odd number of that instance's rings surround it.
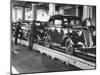
<svg viewBox="0 0 100 75">
<path fill-rule="evenodd" d="M 96 7 L 12 0 L 12 74 L 96 69 Z"/>
</svg>

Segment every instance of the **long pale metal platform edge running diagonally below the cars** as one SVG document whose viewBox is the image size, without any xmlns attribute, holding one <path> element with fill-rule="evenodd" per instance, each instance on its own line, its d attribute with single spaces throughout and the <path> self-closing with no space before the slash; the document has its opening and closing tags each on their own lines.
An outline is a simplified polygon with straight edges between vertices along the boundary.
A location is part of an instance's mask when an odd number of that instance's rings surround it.
<svg viewBox="0 0 100 75">
<path fill-rule="evenodd" d="M 25 46 L 28 46 L 28 42 L 25 40 L 19 40 L 19 43 Z M 46 48 L 41 45 L 34 44 L 33 45 L 33 50 L 39 51 L 41 54 L 44 53 L 47 56 L 50 56 L 52 59 L 57 58 L 61 60 L 62 62 L 65 62 L 66 65 L 71 64 L 73 66 L 76 66 L 80 69 L 95 69 L 96 68 L 96 63 L 87 61 L 85 59 L 75 57 L 72 55 L 68 55 L 50 48 Z"/>
</svg>

